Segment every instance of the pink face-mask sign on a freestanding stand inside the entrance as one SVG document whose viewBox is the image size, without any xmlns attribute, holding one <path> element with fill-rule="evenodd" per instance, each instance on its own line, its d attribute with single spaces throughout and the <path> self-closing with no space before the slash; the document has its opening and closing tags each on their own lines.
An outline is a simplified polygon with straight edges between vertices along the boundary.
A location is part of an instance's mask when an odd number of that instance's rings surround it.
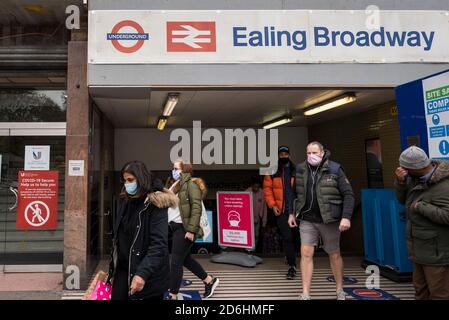
<svg viewBox="0 0 449 320">
<path fill-rule="evenodd" d="M 217 192 L 218 244 L 254 249 L 251 192 Z"/>
</svg>

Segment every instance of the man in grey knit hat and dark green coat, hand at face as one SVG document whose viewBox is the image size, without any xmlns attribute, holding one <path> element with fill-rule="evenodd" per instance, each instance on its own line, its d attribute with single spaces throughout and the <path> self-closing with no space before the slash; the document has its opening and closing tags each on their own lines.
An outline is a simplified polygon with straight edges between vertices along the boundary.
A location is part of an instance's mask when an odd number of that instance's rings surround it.
<svg viewBox="0 0 449 320">
<path fill-rule="evenodd" d="M 407 210 L 415 297 L 449 299 L 449 162 L 412 146 L 399 157 L 396 193 Z"/>
</svg>

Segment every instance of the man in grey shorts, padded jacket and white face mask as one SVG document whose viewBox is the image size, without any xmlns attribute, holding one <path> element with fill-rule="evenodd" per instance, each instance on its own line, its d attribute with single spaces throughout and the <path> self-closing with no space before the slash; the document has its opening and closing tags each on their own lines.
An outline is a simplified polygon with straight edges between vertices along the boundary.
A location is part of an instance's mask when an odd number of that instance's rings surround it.
<svg viewBox="0 0 449 320">
<path fill-rule="evenodd" d="M 311 299 L 313 257 L 321 238 L 334 274 L 337 300 L 345 300 L 340 235 L 351 227 L 354 192 L 341 165 L 330 160 L 330 151 L 318 141 L 309 143 L 307 160 L 296 167 L 294 197 L 288 222 L 293 228 L 298 227 L 296 220 L 300 220 L 303 291 L 300 299 Z"/>
</svg>

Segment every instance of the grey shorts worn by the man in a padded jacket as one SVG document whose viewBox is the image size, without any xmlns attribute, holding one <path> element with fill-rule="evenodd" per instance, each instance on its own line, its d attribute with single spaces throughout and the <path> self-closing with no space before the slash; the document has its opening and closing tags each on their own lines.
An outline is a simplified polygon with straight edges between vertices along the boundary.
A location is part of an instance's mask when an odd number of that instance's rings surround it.
<svg viewBox="0 0 449 320">
<path fill-rule="evenodd" d="M 317 246 L 320 237 L 328 254 L 340 252 L 340 223 L 313 223 L 302 220 L 299 225 L 301 245 Z"/>
</svg>

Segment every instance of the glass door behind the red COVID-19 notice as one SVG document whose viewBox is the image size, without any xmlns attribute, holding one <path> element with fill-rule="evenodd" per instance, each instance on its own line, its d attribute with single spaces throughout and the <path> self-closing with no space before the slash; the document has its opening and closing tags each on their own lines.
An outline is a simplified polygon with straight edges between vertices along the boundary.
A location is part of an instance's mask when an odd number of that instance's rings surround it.
<svg viewBox="0 0 449 320">
<path fill-rule="evenodd" d="M 10 134 L 13 131 L 10 131 Z M 63 262 L 65 136 L 26 130 L 20 136 L 0 136 L 0 265 L 4 270 L 24 265 L 61 265 Z M 14 133 L 13 133 L 14 134 Z M 37 134 L 37 135 L 35 135 Z M 16 227 L 19 171 L 24 170 L 25 146 L 50 146 L 50 170 L 58 171 L 58 222 L 56 230 L 22 230 Z M 20 268 L 19 268 L 20 269 Z M 34 269 L 26 269 L 34 270 Z"/>
</svg>

